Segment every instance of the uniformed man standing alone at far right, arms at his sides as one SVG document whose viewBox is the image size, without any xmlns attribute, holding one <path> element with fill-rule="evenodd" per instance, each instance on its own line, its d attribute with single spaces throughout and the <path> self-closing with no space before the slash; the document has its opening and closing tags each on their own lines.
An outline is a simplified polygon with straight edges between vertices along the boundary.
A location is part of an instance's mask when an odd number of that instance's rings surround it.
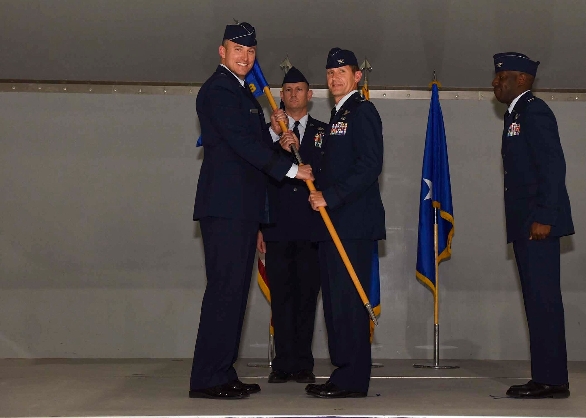
<svg viewBox="0 0 586 418">
<path fill-rule="evenodd" d="M 511 386 L 515 398 L 567 398 L 560 237 L 574 234 L 565 189 L 565 159 L 556 117 L 531 92 L 539 61 L 493 56 L 496 99 L 506 103 L 502 157 L 507 242 L 513 242 L 529 325 L 532 380 Z"/>
</svg>

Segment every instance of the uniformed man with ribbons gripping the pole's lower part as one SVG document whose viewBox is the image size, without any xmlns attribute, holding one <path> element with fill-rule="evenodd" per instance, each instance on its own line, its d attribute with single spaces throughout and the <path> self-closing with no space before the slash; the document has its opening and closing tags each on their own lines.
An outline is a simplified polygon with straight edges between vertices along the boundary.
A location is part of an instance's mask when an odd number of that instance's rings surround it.
<svg viewBox="0 0 586 418">
<path fill-rule="evenodd" d="M 327 207 L 367 292 L 374 241 L 385 238 L 379 190 L 383 125 L 373 103 L 363 100 L 357 90 L 362 72 L 355 54 L 333 48 L 326 68 L 336 105 L 323 141 L 314 143 L 318 191 L 309 194 L 309 201 L 316 211 Z M 325 225 L 321 219 L 315 225 L 329 354 L 337 368 L 325 384 L 310 383 L 305 390 L 318 398 L 366 396 L 371 368 L 369 315 Z"/>
</svg>

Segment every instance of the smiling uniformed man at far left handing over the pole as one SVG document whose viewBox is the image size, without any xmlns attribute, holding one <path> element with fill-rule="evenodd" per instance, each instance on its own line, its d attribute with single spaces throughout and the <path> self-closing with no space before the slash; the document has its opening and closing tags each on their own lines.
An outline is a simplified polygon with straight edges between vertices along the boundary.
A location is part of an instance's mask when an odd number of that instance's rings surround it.
<svg viewBox="0 0 586 418">
<path fill-rule="evenodd" d="M 205 156 L 193 220 L 202 229 L 207 285 L 191 372 L 191 398 L 236 399 L 258 392 L 238 380 L 240 334 L 252 277 L 267 174 L 312 179 L 263 140 L 263 110 L 244 77 L 254 64 L 256 35 L 248 23 L 227 25 L 220 65 L 197 94 Z"/>
</svg>

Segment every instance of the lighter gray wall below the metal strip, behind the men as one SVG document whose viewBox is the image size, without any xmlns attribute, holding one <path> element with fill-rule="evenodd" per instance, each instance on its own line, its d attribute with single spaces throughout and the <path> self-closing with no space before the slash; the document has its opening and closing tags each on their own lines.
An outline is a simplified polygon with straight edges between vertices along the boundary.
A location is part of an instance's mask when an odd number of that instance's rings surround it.
<svg viewBox="0 0 586 418">
<path fill-rule="evenodd" d="M 429 102 L 374 101 L 384 124 L 382 314 L 375 358 L 431 356 L 433 301 L 415 279 Z M 327 119 L 318 98 L 312 115 Z M 585 360 L 586 102 L 551 102 L 577 235 L 564 238 L 568 355 Z M 456 234 L 440 266 L 442 357 L 528 358 L 505 243 L 502 105 L 444 100 Z M 0 358 L 190 357 L 205 288 L 191 220 L 203 150 L 195 97 L 0 93 Z M 226 255 L 227 261 L 229 255 Z M 265 357 L 270 310 L 251 287 L 241 355 Z M 316 357 L 328 357 L 321 307 Z"/>
</svg>

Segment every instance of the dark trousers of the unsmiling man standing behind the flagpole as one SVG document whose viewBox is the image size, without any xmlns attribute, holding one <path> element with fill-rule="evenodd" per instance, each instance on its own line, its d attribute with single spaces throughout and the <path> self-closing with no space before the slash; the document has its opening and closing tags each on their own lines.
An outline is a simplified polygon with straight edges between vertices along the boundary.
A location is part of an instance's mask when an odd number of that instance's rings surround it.
<svg viewBox="0 0 586 418">
<path fill-rule="evenodd" d="M 318 248 L 311 241 L 267 241 L 265 258 L 275 330 L 273 370 L 314 369 L 315 304 L 320 278 Z"/>
</svg>

